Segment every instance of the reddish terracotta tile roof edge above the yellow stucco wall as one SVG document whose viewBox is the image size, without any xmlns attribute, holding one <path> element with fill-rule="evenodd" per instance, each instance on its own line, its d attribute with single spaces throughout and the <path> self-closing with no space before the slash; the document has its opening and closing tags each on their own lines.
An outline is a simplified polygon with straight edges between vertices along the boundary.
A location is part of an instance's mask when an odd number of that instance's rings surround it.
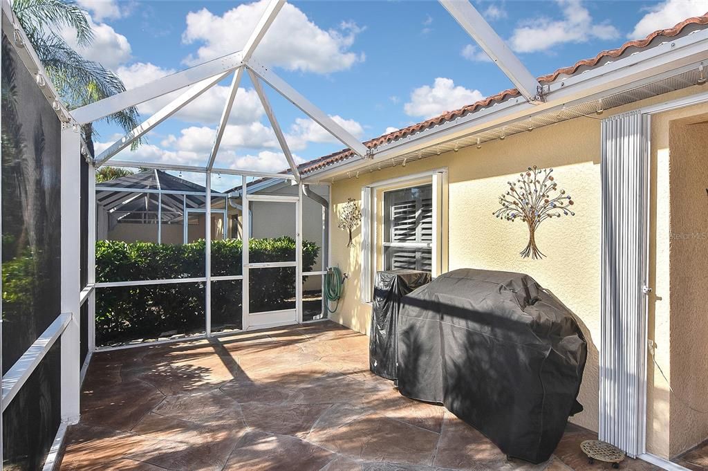
<svg viewBox="0 0 708 471">
<path fill-rule="evenodd" d="M 591 59 L 579 60 L 571 67 L 564 67 L 562 69 L 556 70 L 552 74 L 547 74 L 538 77 L 538 81 L 542 85 L 547 85 L 559 79 L 566 79 L 569 76 L 582 74 L 583 72 L 586 72 L 589 69 L 595 69 L 596 67 L 601 67 L 604 64 L 607 64 L 608 62 L 612 62 L 616 59 L 632 55 L 637 50 L 650 49 L 651 47 L 661 44 L 666 38 L 675 38 L 677 36 L 683 36 L 692 33 L 692 31 L 695 30 L 705 29 L 707 25 L 708 12 L 703 16 L 687 18 L 685 21 L 678 23 L 678 25 L 675 25 L 673 28 L 654 31 L 642 40 L 628 41 L 617 49 L 605 50 L 603 52 L 600 52 L 600 54 L 596 55 Z M 364 145 L 369 148 L 375 148 L 379 145 L 386 144 L 388 142 L 401 140 L 405 137 L 417 134 L 418 132 L 423 132 L 442 123 L 454 121 L 457 118 L 469 115 L 470 113 L 474 113 L 476 110 L 479 110 L 480 108 L 486 108 L 493 103 L 501 103 L 503 101 L 508 100 L 509 98 L 515 98 L 516 96 L 520 96 L 520 93 L 517 89 L 504 90 L 500 93 L 496 93 L 496 95 L 488 96 L 483 100 L 476 101 L 475 103 L 463 106 L 462 108 L 459 108 L 457 110 L 445 111 L 445 113 L 435 116 L 435 118 L 430 118 L 428 120 L 421 121 L 421 123 L 416 123 L 414 125 L 404 127 L 394 132 L 389 132 L 388 134 L 375 137 L 372 140 L 364 142 Z M 314 171 L 324 169 L 324 167 L 329 166 L 331 164 L 336 164 L 337 162 L 347 160 L 355 156 L 356 154 L 351 149 L 343 149 L 341 151 L 334 152 L 333 154 L 329 154 L 324 157 L 319 157 L 318 159 L 314 159 L 311 161 L 307 161 L 304 164 L 300 164 L 298 166 L 298 170 L 300 174 L 309 174 Z M 283 171 L 283 173 L 290 173 L 290 171 Z"/>
</svg>

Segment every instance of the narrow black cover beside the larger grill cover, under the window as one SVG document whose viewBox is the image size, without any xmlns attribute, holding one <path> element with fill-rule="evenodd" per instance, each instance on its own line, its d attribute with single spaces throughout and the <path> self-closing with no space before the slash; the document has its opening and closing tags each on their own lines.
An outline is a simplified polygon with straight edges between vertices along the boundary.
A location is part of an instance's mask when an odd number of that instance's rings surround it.
<svg viewBox="0 0 708 471">
<path fill-rule="evenodd" d="M 430 273 L 416 270 L 390 270 L 376 273 L 374 308 L 369 337 L 369 368 L 373 373 L 396 379 L 396 319 L 401 297 L 430 283 Z"/>
</svg>

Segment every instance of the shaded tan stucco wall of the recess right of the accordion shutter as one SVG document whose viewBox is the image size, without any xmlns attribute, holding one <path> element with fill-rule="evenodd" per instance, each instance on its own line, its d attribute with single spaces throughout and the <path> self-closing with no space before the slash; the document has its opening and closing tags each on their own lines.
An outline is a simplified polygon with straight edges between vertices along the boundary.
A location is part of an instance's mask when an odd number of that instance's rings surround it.
<svg viewBox="0 0 708 471">
<path fill-rule="evenodd" d="M 669 149 L 669 455 L 675 456 L 708 437 L 708 415 L 692 410 L 708 411 L 708 114 L 670 121 Z"/>
</svg>

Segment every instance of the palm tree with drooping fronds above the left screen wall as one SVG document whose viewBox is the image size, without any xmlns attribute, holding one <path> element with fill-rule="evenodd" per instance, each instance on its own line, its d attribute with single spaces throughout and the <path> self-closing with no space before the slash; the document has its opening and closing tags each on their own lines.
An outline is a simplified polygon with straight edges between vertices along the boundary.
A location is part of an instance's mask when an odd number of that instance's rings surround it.
<svg viewBox="0 0 708 471">
<path fill-rule="evenodd" d="M 93 30 L 81 6 L 71 0 L 14 0 L 12 9 L 67 108 L 79 108 L 125 91 L 117 75 L 98 62 L 81 57 L 59 35 L 62 28 L 68 27 L 76 32 L 79 45 L 91 45 Z M 139 124 L 138 118 L 137 108 L 131 107 L 104 119 L 127 132 Z M 93 155 L 96 130 L 89 123 L 81 127 L 81 133 Z M 132 149 L 138 144 L 133 142 Z"/>
</svg>

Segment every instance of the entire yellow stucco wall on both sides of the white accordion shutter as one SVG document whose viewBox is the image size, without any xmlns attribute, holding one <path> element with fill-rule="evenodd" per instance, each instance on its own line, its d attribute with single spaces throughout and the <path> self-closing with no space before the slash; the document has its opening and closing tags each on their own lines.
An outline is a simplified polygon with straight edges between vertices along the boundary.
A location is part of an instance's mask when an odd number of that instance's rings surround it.
<svg viewBox="0 0 708 471">
<path fill-rule="evenodd" d="M 578 317 L 588 340 L 588 363 L 578 397 L 585 410 L 571 420 L 589 429 L 598 429 L 598 342 L 600 341 L 600 118 L 630 109 L 687 96 L 702 91 L 692 87 L 661 97 L 624 106 L 603 116 L 576 118 L 436 157 L 396 166 L 359 178 L 337 181 L 332 186 L 332 264 L 348 273 L 345 293 L 331 319 L 368 333 L 370 305 L 360 302 L 361 231 L 355 230 L 354 245 L 346 248 L 346 233 L 337 229 L 337 214 L 347 198 L 360 200 L 362 186 L 378 181 L 447 168 L 449 212 L 447 227 L 448 265 L 455 268 L 486 268 L 528 273 L 544 288 L 552 290 Z M 678 110 L 656 115 L 652 120 L 652 171 L 650 230 L 651 296 L 649 338 L 658 344 L 656 358 L 667 375 L 669 363 L 669 152 L 668 123 L 680 115 L 698 111 Z M 666 131 L 664 131 L 666 130 Z M 706 147 L 704 147 L 706 148 Z M 522 259 L 518 252 L 527 242 L 527 229 L 519 222 L 497 220 L 498 195 L 506 191 L 506 181 L 527 166 L 553 167 L 554 176 L 576 202 L 575 217 L 548 220 L 539 227 L 536 240 L 546 259 Z M 708 182 L 707 182 L 708 183 Z M 708 185 L 707 185 L 708 186 Z M 704 195 L 705 196 L 705 195 Z M 706 214 L 706 213 L 704 213 Z M 378 244 L 376 244 L 378 245 Z M 701 344 L 704 358 L 708 351 Z M 692 354 L 695 350 L 692 351 Z M 669 457 L 670 412 L 673 402 L 660 373 L 649 360 L 647 449 Z M 704 403 L 708 401 L 704 400 Z M 682 426 L 673 422 L 671 430 Z M 678 443 L 678 442 L 675 442 Z M 672 444 L 672 448 L 673 448 Z"/>
</svg>

